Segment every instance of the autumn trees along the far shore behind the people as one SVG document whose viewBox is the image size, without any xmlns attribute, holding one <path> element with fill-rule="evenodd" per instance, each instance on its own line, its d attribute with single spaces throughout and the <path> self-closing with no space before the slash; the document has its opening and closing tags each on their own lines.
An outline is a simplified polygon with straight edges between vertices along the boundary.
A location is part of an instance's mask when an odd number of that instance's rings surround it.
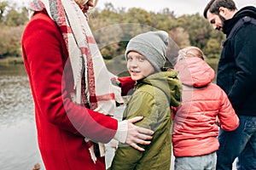
<svg viewBox="0 0 256 170">
<path fill-rule="evenodd" d="M 15 3 L 0 3 L 0 52 L 1 56 L 20 53 L 22 29 L 28 21 L 26 8 L 16 8 Z M 90 12 L 90 28 L 105 59 L 113 59 L 125 53 L 131 37 L 145 31 L 164 30 L 172 38 L 168 50 L 171 61 L 177 56 L 179 48 L 196 46 L 203 49 L 210 58 L 216 58 L 220 52 L 220 42 L 224 34 L 213 31 L 200 14 L 176 17 L 174 11 L 164 8 L 160 12 L 147 12 L 142 8 L 114 8 L 106 3 L 103 10 L 94 8 Z M 14 33 L 15 32 L 15 33 Z M 120 61 L 121 62 L 121 61 Z"/>
</svg>

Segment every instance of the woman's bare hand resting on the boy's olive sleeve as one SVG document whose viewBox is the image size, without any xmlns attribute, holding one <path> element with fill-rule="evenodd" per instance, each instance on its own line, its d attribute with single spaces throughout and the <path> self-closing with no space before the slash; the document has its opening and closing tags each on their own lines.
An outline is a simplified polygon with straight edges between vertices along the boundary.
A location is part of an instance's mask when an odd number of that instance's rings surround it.
<svg viewBox="0 0 256 170">
<path fill-rule="evenodd" d="M 136 116 L 133 117 L 128 121 L 128 133 L 127 138 L 125 140 L 126 144 L 130 144 L 133 148 L 145 151 L 142 147 L 139 147 L 137 144 L 150 144 L 151 141 L 145 141 L 145 140 L 151 140 L 153 137 L 151 136 L 154 132 L 152 130 L 149 130 L 144 127 L 137 127 L 133 123 L 141 121 L 143 119 L 143 116 Z"/>
</svg>

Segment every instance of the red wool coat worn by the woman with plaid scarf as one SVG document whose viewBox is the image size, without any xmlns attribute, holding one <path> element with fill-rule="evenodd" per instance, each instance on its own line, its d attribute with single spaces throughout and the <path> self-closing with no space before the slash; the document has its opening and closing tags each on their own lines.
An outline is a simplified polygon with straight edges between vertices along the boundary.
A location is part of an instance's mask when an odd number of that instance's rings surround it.
<svg viewBox="0 0 256 170">
<path fill-rule="evenodd" d="M 61 31 L 45 12 L 35 14 L 26 26 L 22 50 L 46 169 L 105 169 L 104 160 L 96 164 L 91 160 L 84 137 L 107 143 L 113 139 L 118 122 L 73 104 L 67 48 Z"/>
</svg>

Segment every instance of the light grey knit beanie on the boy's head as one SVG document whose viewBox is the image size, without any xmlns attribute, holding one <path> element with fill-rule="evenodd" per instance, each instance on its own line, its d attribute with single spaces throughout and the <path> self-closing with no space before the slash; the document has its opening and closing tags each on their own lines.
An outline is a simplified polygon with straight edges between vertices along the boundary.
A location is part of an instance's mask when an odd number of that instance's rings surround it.
<svg viewBox="0 0 256 170">
<path fill-rule="evenodd" d="M 166 63 L 166 48 L 169 44 L 169 37 L 166 31 L 148 31 L 131 38 L 128 42 L 125 59 L 127 54 L 135 51 L 142 54 L 156 71 L 160 71 Z"/>
</svg>

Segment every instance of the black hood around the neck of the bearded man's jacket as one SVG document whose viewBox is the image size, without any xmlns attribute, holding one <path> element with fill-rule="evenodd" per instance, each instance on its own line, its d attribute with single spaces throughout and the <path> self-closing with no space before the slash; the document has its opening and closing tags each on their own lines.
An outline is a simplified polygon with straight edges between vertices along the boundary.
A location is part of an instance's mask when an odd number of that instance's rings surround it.
<svg viewBox="0 0 256 170">
<path fill-rule="evenodd" d="M 249 16 L 256 19 L 256 8 L 253 6 L 241 8 L 239 11 L 237 11 L 233 18 L 231 18 L 230 20 L 225 20 L 223 26 L 224 34 L 229 35 L 231 29 L 233 28 L 233 26 L 235 26 L 236 22 L 244 16 Z"/>
</svg>

